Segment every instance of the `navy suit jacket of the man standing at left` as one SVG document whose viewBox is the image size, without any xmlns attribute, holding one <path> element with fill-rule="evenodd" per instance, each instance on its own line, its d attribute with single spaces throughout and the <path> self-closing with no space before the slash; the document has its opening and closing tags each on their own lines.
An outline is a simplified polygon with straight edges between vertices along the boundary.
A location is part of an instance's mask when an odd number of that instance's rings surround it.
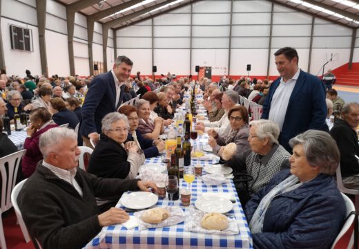
<svg viewBox="0 0 359 249">
<path fill-rule="evenodd" d="M 115 80 L 111 71 L 101 73 L 93 79 L 88 89 L 84 105 L 82 106 L 82 120 L 80 124 L 81 136 L 97 132 L 101 133 L 101 120 L 106 114 L 117 111 L 122 102 L 128 101 L 124 98 L 124 84 L 121 86 L 119 103 L 116 103 Z"/>
</svg>

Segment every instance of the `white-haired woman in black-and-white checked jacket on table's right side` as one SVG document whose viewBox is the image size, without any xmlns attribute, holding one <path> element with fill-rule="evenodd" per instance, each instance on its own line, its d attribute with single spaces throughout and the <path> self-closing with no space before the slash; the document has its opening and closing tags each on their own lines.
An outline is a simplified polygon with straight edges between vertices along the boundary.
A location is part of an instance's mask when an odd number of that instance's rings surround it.
<svg viewBox="0 0 359 249">
<path fill-rule="evenodd" d="M 253 179 L 248 182 L 248 188 L 240 191 L 240 201 L 244 206 L 251 195 L 265 187 L 271 178 L 281 169 L 289 167 L 291 156 L 282 145 L 278 144 L 280 129 L 276 122 L 270 120 L 255 120 L 249 123 L 250 151 L 235 154 L 226 165 L 232 167 L 235 173 L 249 174 Z M 235 180 L 237 180 L 235 178 Z"/>
</svg>

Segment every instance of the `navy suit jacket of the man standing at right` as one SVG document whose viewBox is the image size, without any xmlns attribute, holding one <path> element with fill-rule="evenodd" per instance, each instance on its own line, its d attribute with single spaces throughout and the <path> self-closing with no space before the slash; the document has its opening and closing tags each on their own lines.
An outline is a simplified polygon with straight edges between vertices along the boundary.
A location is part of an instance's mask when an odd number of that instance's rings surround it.
<svg viewBox="0 0 359 249">
<path fill-rule="evenodd" d="M 275 90 L 279 86 L 280 77 L 271 84 L 269 93 L 263 105 L 262 119 L 269 118 L 271 102 Z M 285 114 L 280 145 L 291 151 L 289 140 L 309 129 L 329 131 L 325 119 L 327 118 L 327 104 L 325 102 L 324 84 L 318 77 L 300 71 L 295 83 L 288 108 Z"/>
</svg>

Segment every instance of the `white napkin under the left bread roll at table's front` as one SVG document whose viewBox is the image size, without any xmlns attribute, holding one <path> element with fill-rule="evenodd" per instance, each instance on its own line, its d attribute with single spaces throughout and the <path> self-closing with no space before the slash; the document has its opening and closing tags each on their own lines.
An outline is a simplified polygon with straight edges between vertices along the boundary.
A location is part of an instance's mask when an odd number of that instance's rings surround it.
<svg viewBox="0 0 359 249">
<path fill-rule="evenodd" d="M 158 224 L 147 223 L 147 222 L 142 221 L 141 215 L 145 210 L 135 212 L 133 215 L 135 215 L 138 218 L 138 221 L 139 221 L 138 230 L 142 231 L 142 230 L 146 230 L 148 228 L 164 228 L 166 226 L 175 225 L 175 224 L 178 224 L 178 223 L 181 223 L 182 221 L 184 221 L 185 216 L 184 216 L 184 212 L 183 212 L 182 208 L 164 207 L 164 209 L 167 210 L 168 212 L 170 212 L 170 216 Z"/>
</svg>

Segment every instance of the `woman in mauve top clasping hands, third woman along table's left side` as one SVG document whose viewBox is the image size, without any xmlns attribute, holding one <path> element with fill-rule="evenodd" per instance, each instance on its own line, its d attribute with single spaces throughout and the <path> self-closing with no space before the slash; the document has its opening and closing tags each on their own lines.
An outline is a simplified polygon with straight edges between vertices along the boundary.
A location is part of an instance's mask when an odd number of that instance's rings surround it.
<svg viewBox="0 0 359 249">
<path fill-rule="evenodd" d="M 156 140 L 164 131 L 163 118 L 157 117 L 153 122 L 150 119 L 150 102 L 147 100 L 137 100 L 135 103 L 139 117 L 138 131 L 144 138 Z"/>
</svg>

